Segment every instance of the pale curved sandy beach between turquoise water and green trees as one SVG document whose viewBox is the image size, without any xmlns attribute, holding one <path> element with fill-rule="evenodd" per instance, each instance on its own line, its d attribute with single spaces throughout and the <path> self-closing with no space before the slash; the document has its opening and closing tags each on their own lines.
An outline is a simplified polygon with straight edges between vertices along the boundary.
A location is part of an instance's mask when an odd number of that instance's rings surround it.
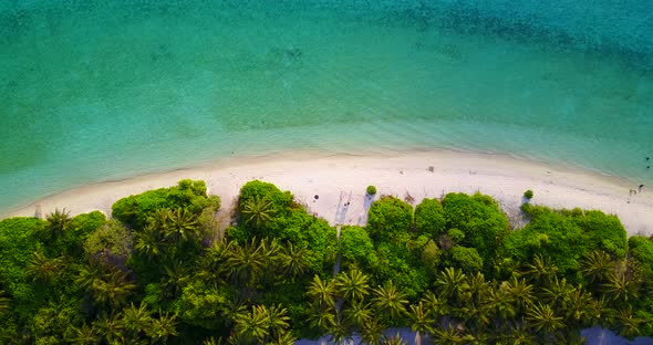
<svg viewBox="0 0 653 345">
<path fill-rule="evenodd" d="M 432 168 L 429 168 L 432 167 Z M 43 215 L 65 208 L 73 215 L 101 210 L 125 196 L 175 185 L 184 178 L 203 179 L 209 194 L 219 195 L 230 207 L 240 187 L 252 179 L 290 190 L 311 212 L 330 223 L 364 224 L 371 200 L 367 185 L 379 195 L 404 198 L 415 205 L 423 198 L 440 198 L 450 191 L 481 191 L 499 200 L 517 221 L 525 190 L 535 192 L 533 203 L 556 208 L 600 209 L 618 215 L 630 234 L 653 233 L 653 186 L 638 195 L 636 185 L 581 170 L 527 161 L 502 155 L 457 151 L 422 151 L 393 156 L 320 156 L 302 153 L 265 158 L 242 158 L 216 165 L 122 181 L 83 186 L 39 200 L 4 217 Z M 319 196 L 319 199 L 314 199 Z M 349 206 L 346 202 L 349 201 Z"/>
</svg>

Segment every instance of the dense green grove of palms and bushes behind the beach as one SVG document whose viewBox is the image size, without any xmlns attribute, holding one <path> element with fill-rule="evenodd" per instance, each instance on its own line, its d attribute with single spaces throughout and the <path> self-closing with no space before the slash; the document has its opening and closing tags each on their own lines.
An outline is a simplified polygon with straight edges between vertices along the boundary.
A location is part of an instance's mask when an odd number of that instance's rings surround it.
<svg viewBox="0 0 653 345">
<path fill-rule="evenodd" d="M 371 196 L 370 196 L 371 198 Z M 250 181 L 228 226 L 204 181 L 0 221 L 0 343 L 292 344 L 410 327 L 435 344 L 576 344 L 599 325 L 653 335 L 653 239 L 615 216 L 448 194 L 377 198 L 336 228 Z M 408 200 L 412 201 L 412 200 Z"/>
</svg>

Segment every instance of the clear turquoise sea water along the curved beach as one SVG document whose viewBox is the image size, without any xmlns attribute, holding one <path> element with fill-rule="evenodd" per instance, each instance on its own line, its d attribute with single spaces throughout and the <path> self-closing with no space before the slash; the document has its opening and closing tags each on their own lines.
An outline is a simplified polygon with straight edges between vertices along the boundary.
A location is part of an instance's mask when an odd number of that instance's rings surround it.
<svg viewBox="0 0 653 345">
<path fill-rule="evenodd" d="M 653 182 L 653 2 L 0 2 L 0 210 L 293 148 Z"/>
</svg>

